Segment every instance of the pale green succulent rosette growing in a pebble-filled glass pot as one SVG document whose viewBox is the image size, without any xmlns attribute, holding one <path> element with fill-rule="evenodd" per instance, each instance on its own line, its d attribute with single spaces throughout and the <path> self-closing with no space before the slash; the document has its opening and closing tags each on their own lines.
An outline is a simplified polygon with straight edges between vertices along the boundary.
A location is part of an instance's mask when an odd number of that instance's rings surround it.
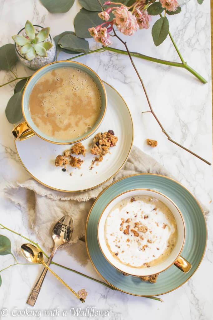
<svg viewBox="0 0 213 320">
<path fill-rule="evenodd" d="M 36 54 L 41 57 L 47 57 L 47 50 L 52 47 L 49 41 L 45 41 L 49 36 L 49 30 L 49 27 L 43 28 L 36 34 L 33 24 L 27 20 L 25 24 L 27 36 L 15 35 L 12 38 L 16 44 L 21 46 L 20 53 L 27 60 L 33 60 Z"/>
</svg>

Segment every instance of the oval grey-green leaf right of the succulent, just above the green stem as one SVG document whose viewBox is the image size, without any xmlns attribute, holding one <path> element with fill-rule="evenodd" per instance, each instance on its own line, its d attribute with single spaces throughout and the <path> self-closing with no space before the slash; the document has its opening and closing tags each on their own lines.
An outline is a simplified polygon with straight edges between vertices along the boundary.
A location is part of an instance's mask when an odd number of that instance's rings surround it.
<svg viewBox="0 0 213 320">
<path fill-rule="evenodd" d="M 83 52 L 87 53 L 89 51 L 88 41 L 81 39 L 75 35 L 65 35 L 59 40 L 59 46 L 61 48 L 71 50 L 74 52 Z"/>
</svg>

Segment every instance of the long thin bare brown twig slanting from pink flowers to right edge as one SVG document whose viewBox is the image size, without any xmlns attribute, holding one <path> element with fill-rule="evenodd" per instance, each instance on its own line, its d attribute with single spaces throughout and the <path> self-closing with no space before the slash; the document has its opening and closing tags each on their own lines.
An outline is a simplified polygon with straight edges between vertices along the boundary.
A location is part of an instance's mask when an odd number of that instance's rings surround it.
<svg viewBox="0 0 213 320">
<path fill-rule="evenodd" d="M 99 1 L 99 0 L 98 0 L 98 1 Z M 149 98 L 148 98 L 148 94 L 147 94 L 145 85 L 144 85 L 143 80 L 142 80 L 142 78 L 141 78 L 141 76 L 140 76 L 140 74 L 139 74 L 139 72 L 138 72 L 138 70 L 137 70 L 137 68 L 136 68 L 136 66 L 135 66 L 135 64 L 134 64 L 134 61 L 133 61 L 133 59 L 132 59 L 132 56 L 131 56 L 131 54 L 130 54 L 130 52 L 129 52 L 129 49 L 128 49 L 128 47 L 127 47 L 126 41 L 123 41 L 123 40 L 117 35 L 117 33 L 115 32 L 114 28 L 113 28 L 113 32 L 114 32 L 114 36 L 116 36 L 116 37 L 118 38 L 118 40 L 120 40 L 120 41 L 122 42 L 122 44 L 124 44 L 124 46 L 125 46 L 125 48 L 126 48 L 126 52 L 127 52 L 128 56 L 129 56 L 129 58 L 130 58 L 130 60 L 131 60 L 132 65 L 133 65 L 133 68 L 135 69 L 135 72 L 136 72 L 136 74 L 137 74 L 137 76 L 138 76 L 138 78 L 139 78 L 139 80 L 140 80 L 140 82 L 141 82 L 141 85 L 142 85 L 142 87 L 143 87 L 143 90 L 144 90 L 144 93 L 145 93 L 145 96 L 146 96 L 146 99 L 147 99 L 147 102 L 148 102 L 148 106 L 149 106 L 149 108 L 150 108 L 150 112 L 152 113 L 152 115 L 153 115 L 154 118 L 156 119 L 156 121 L 157 121 L 157 123 L 159 124 L 162 132 L 167 136 L 167 139 L 168 139 L 169 141 L 171 141 L 172 143 L 176 144 L 177 146 L 179 146 L 180 148 L 188 151 L 188 152 L 191 153 L 193 156 L 196 156 L 196 157 L 199 158 L 200 160 L 202 160 L 202 161 L 204 161 L 205 163 L 211 165 L 211 163 L 210 163 L 209 161 L 203 159 L 201 156 L 198 156 L 196 153 L 192 152 L 191 150 L 185 148 L 184 146 L 182 146 L 181 144 L 179 144 L 178 142 L 176 142 L 175 140 L 173 140 L 173 139 L 170 137 L 170 135 L 165 131 L 163 125 L 161 124 L 160 120 L 159 120 L 158 117 L 156 116 L 156 114 L 155 114 L 155 112 L 154 112 L 154 110 L 153 110 L 153 108 L 152 108 L 152 106 L 151 106 L 151 103 L 150 103 L 150 100 L 149 100 Z"/>
</svg>

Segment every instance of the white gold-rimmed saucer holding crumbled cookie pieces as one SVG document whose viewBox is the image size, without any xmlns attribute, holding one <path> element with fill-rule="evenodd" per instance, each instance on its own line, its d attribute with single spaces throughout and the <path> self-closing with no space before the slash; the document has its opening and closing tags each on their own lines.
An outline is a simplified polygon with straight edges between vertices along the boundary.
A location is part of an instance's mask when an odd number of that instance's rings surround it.
<svg viewBox="0 0 213 320">
<path fill-rule="evenodd" d="M 89 144 L 97 132 L 113 130 L 118 137 L 115 147 L 103 157 L 103 161 L 94 164 L 89 170 L 94 156 L 87 152 L 80 156 L 84 163 L 80 169 L 67 165 L 66 172 L 55 166 L 55 158 L 70 146 L 56 145 L 38 136 L 24 141 L 15 141 L 19 159 L 27 172 L 46 187 L 65 192 L 77 192 L 93 189 L 112 178 L 126 162 L 133 144 L 133 120 L 124 99 L 109 84 L 104 83 L 107 92 L 107 111 L 97 131 L 82 144 L 89 150 Z M 70 175 L 72 173 L 72 175 Z"/>
</svg>

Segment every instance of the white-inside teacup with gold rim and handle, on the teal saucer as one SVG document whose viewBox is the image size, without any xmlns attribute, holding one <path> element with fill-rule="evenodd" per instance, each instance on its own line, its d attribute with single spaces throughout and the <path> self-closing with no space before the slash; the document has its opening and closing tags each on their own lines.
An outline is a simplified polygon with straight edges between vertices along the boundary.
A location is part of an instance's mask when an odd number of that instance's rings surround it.
<svg viewBox="0 0 213 320">
<path fill-rule="evenodd" d="M 173 250 L 171 251 L 170 255 L 163 260 L 162 262 L 151 266 L 149 268 L 134 268 L 131 266 L 128 266 L 122 262 L 120 262 L 118 259 L 116 259 L 112 253 L 110 252 L 107 243 L 105 241 L 105 222 L 106 218 L 110 212 L 110 210 L 118 204 L 121 200 L 127 198 L 127 197 L 133 197 L 133 196 L 151 196 L 155 197 L 156 199 L 162 201 L 172 212 L 176 224 L 177 224 L 177 230 L 178 230 L 178 236 L 177 241 L 174 245 Z M 126 192 L 123 192 L 122 194 L 116 196 L 113 198 L 104 208 L 103 212 L 100 215 L 99 221 L 98 221 L 98 227 L 97 227 L 97 238 L 98 238 L 98 244 L 99 247 L 103 253 L 103 256 L 105 259 L 116 269 L 121 271 L 122 273 L 126 275 L 132 275 L 132 276 L 152 276 L 159 274 L 163 272 L 164 270 L 171 267 L 173 264 L 179 268 L 182 272 L 187 273 L 191 269 L 191 264 L 185 260 L 181 256 L 181 252 L 183 250 L 184 242 L 185 242 L 185 236 L 186 236 L 186 228 L 183 216 L 179 210 L 179 208 L 174 204 L 174 202 L 168 198 L 167 196 L 163 195 L 162 193 L 151 190 L 151 189 L 133 189 L 128 190 Z"/>
</svg>

